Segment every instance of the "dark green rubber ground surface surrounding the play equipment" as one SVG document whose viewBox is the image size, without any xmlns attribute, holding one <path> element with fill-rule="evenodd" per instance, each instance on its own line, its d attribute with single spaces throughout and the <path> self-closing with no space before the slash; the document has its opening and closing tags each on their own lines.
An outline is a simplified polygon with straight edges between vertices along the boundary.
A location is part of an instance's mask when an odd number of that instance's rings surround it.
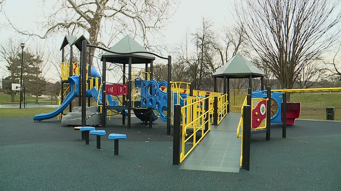
<svg viewBox="0 0 341 191">
<path fill-rule="evenodd" d="M 252 135 L 250 171 L 239 173 L 179 170 L 164 122 L 149 128 L 132 118 L 131 129 L 120 123 L 97 127 L 127 134 L 115 156 L 107 135 L 103 151 L 96 150 L 95 136 L 85 145 L 79 131 L 56 118 L 0 118 L 0 190 L 341 190 L 340 122 L 297 120 L 287 138 L 281 127 L 271 128 L 271 141 Z"/>
</svg>

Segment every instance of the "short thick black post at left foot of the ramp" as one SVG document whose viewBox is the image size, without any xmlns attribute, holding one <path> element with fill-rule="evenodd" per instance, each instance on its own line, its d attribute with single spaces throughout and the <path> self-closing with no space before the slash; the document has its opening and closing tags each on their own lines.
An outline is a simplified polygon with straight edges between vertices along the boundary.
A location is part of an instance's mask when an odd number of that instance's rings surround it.
<svg viewBox="0 0 341 191">
<path fill-rule="evenodd" d="M 174 105 L 174 129 L 173 129 L 173 165 L 180 164 L 180 131 L 181 124 L 181 105 Z"/>
</svg>

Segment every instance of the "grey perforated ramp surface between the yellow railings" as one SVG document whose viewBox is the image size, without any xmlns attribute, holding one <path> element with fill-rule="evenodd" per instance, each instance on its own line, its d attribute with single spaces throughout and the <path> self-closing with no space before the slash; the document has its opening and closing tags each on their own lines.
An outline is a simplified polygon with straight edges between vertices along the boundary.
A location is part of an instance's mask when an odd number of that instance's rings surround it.
<svg viewBox="0 0 341 191">
<path fill-rule="evenodd" d="M 239 112 L 228 113 L 218 126 L 211 126 L 179 169 L 239 172 L 241 139 L 237 139 L 236 132 L 239 119 Z"/>
</svg>

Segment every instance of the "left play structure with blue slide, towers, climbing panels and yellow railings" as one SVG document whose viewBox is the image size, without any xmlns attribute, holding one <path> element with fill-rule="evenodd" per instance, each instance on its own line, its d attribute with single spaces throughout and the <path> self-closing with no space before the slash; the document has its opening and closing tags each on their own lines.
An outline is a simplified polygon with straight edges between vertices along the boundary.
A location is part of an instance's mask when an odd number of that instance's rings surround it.
<svg viewBox="0 0 341 191">
<path fill-rule="evenodd" d="M 80 63 L 65 62 L 64 47 L 70 45 L 70 53 L 72 55 L 72 46 L 75 45 L 81 52 Z M 122 116 L 122 124 L 128 121 L 128 128 L 131 127 L 131 111 L 135 116 L 152 127 L 152 123 L 159 117 L 162 121 L 167 121 L 167 134 L 170 134 L 170 126 L 174 122 L 174 106 L 181 106 L 196 103 L 197 108 L 184 110 L 184 121 L 192 121 L 195 113 L 204 111 L 203 103 L 205 99 L 209 100 L 209 107 L 213 108 L 214 97 L 218 97 L 216 104 L 219 106 L 219 115 L 216 116 L 217 124 L 225 117 L 227 113 L 227 94 L 193 90 L 191 83 L 187 82 L 171 82 L 170 81 L 170 59 L 168 60 L 168 82 L 158 82 L 153 80 L 153 53 L 148 53 L 131 37 L 126 36 L 120 40 L 102 55 L 102 74 L 100 74 L 90 63 L 87 62 L 87 48 L 100 48 L 90 45 L 84 36 L 76 37 L 65 36 L 61 50 L 62 62 L 61 66 L 61 82 L 59 108 L 48 114 L 39 114 L 34 116 L 35 121 L 50 119 L 55 116 L 61 118 L 64 125 L 102 125 L 105 127 L 106 121 L 114 115 Z M 127 49 L 128 47 L 128 49 Z M 102 48 L 100 48 L 102 49 Z M 131 51 L 131 52 L 129 52 Z M 122 54 L 117 52 L 123 52 Z M 156 55 L 158 56 L 158 55 Z M 160 57 L 160 56 L 159 56 Z M 106 82 L 106 63 L 112 62 L 123 66 L 122 84 L 113 84 Z M 128 64 L 128 72 L 126 65 Z M 140 71 L 132 70 L 132 64 L 145 64 L 146 68 Z M 150 64 L 150 67 L 148 65 Z M 82 68 L 85 68 L 83 70 Z M 148 71 L 149 69 L 149 71 Z M 128 73 L 128 77 L 126 74 Z M 84 78 L 82 76 L 85 76 Z M 128 80 L 126 81 L 126 79 Z M 83 85 L 85 84 L 85 85 Z M 66 87 L 65 87 L 66 86 Z M 170 88 L 168 88 L 170 87 Z M 170 90 L 170 91 L 169 91 Z M 85 92 L 82 93 L 82 92 Z M 104 95 L 104 96 L 102 96 Z M 78 97 L 78 106 L 72 107 L 72 101 Z M 86 104 L 85 99 L 94 98 L 96 106 L 91 106 L 90 99 Z M 206 98 L 208 97 L 208 98 Z M 116 99 L 117 98 L 117 99 Z M 104 103 L 104 104 L 103 104 Z M 69 106 L 70 110 L 67 115 L 63 114 L 64 109 Z M 212 110 L 212 109 L 211 109 Z M 155 114 L 156 113 L 156 114 Z M 169 115 L 168 115 L 169 114 Z M 212 112 L 210 115 L 212 116 Z M 214 121 L 211 120 L 212 124 Z M 194 123 L 191 124 L 194 128 Z"/>
</svg>

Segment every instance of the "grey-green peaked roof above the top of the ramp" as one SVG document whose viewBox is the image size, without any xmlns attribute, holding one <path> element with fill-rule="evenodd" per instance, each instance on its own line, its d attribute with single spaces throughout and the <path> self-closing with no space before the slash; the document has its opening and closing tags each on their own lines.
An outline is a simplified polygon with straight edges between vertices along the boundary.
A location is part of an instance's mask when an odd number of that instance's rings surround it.
<svg viewBox="0 0 341 191">
<path fill-rule="evenodd" d="M 256 66 L 251 64 L 243 56 L 237 53 L 233 56 L 226 64 L 219 68 L 212 77 L 224 77 L 227 78 L 249 78 L 252 77 L 262 77 L 265 73 L 258 69 Z"/>
</svg>

